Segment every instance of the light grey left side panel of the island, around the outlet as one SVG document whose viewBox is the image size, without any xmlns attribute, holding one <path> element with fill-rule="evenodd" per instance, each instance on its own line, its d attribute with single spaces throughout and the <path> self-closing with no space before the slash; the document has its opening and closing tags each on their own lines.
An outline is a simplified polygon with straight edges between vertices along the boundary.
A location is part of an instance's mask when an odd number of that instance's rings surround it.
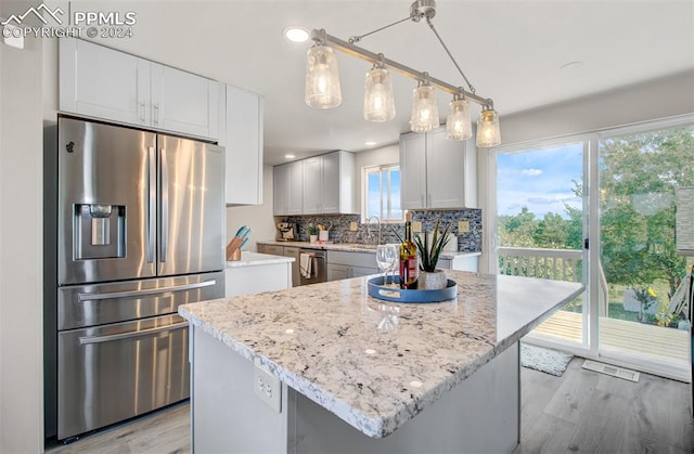
<svg viewBox="0 0 694 454">
<path fill-rule="evenodd" d="M 277 413 L 253 392 L 254 365 L 191 325 L 194 453 L 286 453 L 287 391 Z"/>
</svg>

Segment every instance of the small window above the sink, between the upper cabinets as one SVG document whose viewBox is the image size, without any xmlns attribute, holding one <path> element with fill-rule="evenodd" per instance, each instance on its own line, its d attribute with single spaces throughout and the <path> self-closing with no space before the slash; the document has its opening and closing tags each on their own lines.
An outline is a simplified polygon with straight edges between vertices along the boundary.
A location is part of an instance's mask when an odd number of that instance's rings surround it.
<svg viewBox="0 0 694 454">
<path fill-rule="evenodd" d="M 397 164 L 364 168 L 363 217 L 377 216 L 384 222 L 402 222 L 400 167 Z"/>
</svg>

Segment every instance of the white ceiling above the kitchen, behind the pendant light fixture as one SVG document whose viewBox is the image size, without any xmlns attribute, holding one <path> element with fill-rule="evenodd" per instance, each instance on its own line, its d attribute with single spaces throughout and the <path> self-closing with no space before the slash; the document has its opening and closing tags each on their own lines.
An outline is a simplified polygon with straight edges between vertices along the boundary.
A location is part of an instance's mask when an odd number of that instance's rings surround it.
<svg viewBox="0 0 694 454">
<path fill-rule="evenodd" d="M 134 11 L 133 38 L 98 42 L 255 91 L 265 98 L 265 161 L 395 143 L 409 130 L 415 82 L 396 75 L 395 120 L 362 118 L 367 62 L 338 53 L 343 104 L 304 104 L 310 42 L 290 25 L 347 39 L 404 18 L 410 0 L 73 1 L 73 11 Z M 438 0 L 433 22 L 477 94 L 503 116 L 694 68 L 691 0 Z M 452 85 L 463 80 L 424 23 L 404 22 L 359 46 Z M 570 64 L 581 62 L 580 64 Z M 690 93 L 691 94 L 691 93 Z M 686 94 L 685 94 L 686 95 Z M 441 121 L 449 96 L 439 93 Z M 479 109 L 473 109 L 476 117 Z"/>
</svg>

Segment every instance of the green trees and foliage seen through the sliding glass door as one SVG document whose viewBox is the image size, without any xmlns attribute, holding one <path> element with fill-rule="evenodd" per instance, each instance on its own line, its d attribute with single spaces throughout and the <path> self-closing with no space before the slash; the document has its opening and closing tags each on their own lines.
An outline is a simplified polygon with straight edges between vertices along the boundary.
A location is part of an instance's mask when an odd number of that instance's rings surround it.
<svg viewBox="0 0 694 454">
<path fill-rule="evenodd" d="M 694 186 L 694 126 L 602 141 L 599 166 L 601 258 L 609 294 L 624 298 L 631 288 L 641 303 L 639 313 L 624 313 L 622 300 L 611 298 L 609 316 L 614 312 L 654 322 L 645 312 L 658 304 L 656 323 L 676 321 L 680 314 L 664 313 L 686 267 L 686 259 L 676 254 L 674 190 Z M 581 192 L 574 182 L 574 193 Z M 517 215 L 501 216 L 498 232 L 505 247 L 581 249 L 582 213 L 566 206 L 564 216 L 550 212 L 537 219 L 524 207 Z M 504 270 L 500 258 L 500 272 L 512 274 L 513 267 L 506 262 Z"/>
</svg>

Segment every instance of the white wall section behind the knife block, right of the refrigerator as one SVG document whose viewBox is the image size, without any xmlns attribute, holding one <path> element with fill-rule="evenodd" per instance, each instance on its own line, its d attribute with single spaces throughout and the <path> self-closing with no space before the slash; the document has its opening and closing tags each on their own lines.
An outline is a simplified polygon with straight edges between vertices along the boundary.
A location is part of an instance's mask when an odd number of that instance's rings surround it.
<svg viewBox="0 0 694 454">
<path fill-rule="evenodd" d="M 241 225 L 246 225 L 253 231 L 243 250 L 256 251 L 256 242 L 274 239 L 272 166 L 262 166 L 262 205 L 227 207 L 227 243 L 233 238 Z"/>
</svg>

